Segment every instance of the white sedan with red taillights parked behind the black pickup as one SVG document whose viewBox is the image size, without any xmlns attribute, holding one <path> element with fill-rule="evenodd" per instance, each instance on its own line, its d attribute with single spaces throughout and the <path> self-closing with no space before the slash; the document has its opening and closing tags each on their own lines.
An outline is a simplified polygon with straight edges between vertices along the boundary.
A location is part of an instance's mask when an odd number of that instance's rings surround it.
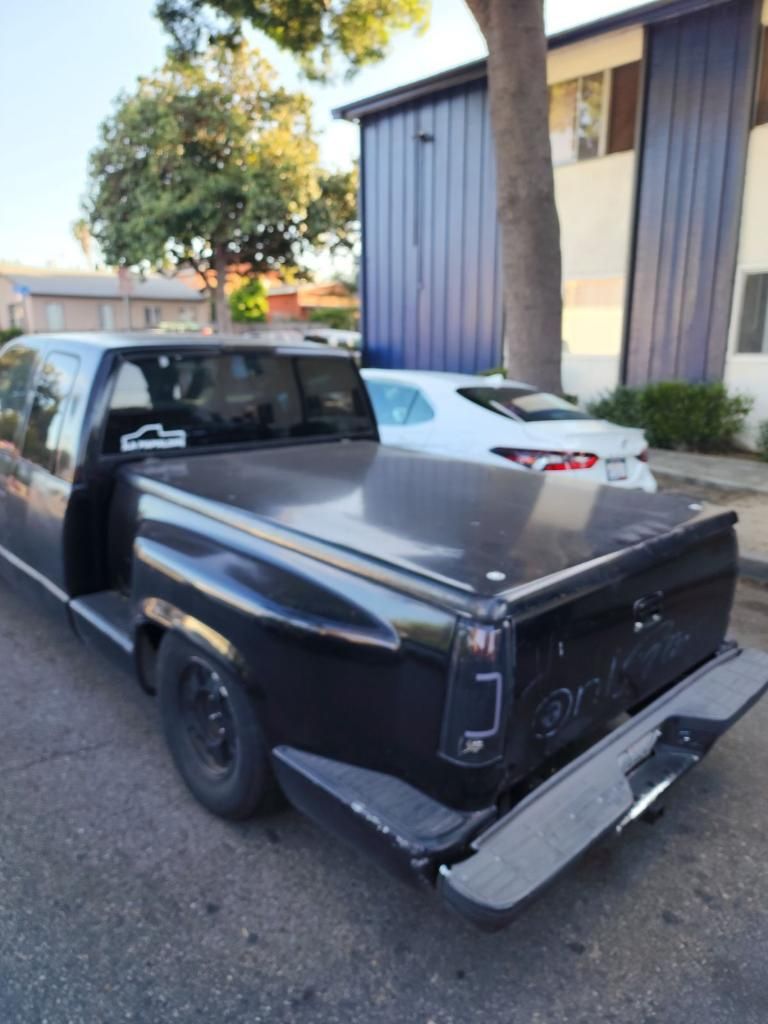
<svg viewBox="0 0 768 1024">
<path fill-rule="evenodd" d="M 642 430 L 501 375 L 364 370 L 385 444 L 654 492 Z"/>
</svg>

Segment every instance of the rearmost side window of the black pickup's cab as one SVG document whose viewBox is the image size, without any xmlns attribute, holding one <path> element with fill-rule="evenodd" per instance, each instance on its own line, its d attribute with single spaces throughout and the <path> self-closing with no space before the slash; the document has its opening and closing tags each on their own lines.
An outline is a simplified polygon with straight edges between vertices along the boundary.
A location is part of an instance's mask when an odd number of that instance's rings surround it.
<svg viewBox="0 0 768 1024">
<path fill-rule="evenodd" d="M 49 472 L 55 472 L 56 452 L 67 399 L 75 383 L 80 359 L 52 352 L 41 366 L 32 401 L 23 455 Z"/>
</svg>

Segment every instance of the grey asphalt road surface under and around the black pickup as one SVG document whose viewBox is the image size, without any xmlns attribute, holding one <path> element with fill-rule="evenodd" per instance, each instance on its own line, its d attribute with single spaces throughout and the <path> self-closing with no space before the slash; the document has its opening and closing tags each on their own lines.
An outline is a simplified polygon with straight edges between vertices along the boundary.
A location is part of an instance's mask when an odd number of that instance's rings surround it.
<svg viewBox="0 0 768 1024">
<path fill-rule="evenodd" d="M 768 1021 L 768 700 L 487 935 L 298 813 L 210 817 L 153 701 L 1 600 L 0 1024 Z M 768 646 L 768 591 L 734 625 Z"/>
</svg>

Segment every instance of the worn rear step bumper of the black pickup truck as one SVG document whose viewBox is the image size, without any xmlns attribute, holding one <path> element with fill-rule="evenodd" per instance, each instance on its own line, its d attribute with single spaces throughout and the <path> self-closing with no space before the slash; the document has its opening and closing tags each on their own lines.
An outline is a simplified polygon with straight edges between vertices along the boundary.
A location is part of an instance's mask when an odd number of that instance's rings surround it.
<svg viewBox="0 0 768 1024">
<path fill-rule="evenodd" d="M 439 869 L 447 902 L 507 924 L 593 843 L 639 817 L 768 688 L 768 654 L 724 651 L 552 775 Z"/>
</svg>

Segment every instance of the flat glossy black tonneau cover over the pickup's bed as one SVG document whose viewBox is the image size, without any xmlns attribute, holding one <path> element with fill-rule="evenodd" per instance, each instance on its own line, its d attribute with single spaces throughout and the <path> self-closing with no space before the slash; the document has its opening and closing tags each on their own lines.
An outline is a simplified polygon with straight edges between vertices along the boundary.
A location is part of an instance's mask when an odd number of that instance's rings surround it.
<svg viewBox="0 0 768 1024">
<path fill-rule="evenodd" d="M 154 459 L 130 475 L 170 484 L 200 511 L 256 516 L 464 593 L 509 596 L 544 578 L 730 512 L 686 498 L 458 462 L 372 441 Z M 688 532 L 688 530 L 684 530 Z"/>
</svg>

